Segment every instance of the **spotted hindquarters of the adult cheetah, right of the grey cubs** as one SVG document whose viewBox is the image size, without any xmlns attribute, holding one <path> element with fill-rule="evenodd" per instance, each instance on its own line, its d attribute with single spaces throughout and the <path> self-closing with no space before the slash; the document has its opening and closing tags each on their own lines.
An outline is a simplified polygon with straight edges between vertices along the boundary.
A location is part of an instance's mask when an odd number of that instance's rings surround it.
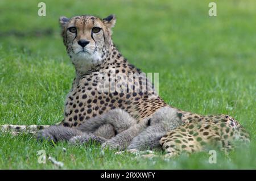
<svg viewBox="0 0 256 181">
<path fill-rule="evenodd" d="M 237 141 L 248 144 L 250 136 L 233 117 L 187 113 L 183 116 L 183 125 L 164 135 L 160 145 L 168 157 L 174 157 L 183 151 L 195 153 L 215 148 L 228 153 Z"/>
</svg>

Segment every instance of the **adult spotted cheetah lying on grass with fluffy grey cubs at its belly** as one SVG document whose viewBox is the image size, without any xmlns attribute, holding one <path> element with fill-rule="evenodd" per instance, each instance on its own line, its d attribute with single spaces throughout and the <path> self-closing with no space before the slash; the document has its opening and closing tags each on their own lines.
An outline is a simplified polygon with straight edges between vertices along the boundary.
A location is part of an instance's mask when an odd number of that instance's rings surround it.
<svg viewBox="0 0 256 181">
<path fill-rule="evenodd" d="M 209 145 L 229 150 L 236 140 L 250 142 L 249 133 L 228 115 L 197 115 L 165 103 L 145 73 L 131 65 L 113 44 L 115 15 L 104 19 L 61 16 L 59 20 L 63 43 L 76 71 L 63 121 L 50 127 L 3 125 L 3 131 L 35 132 L 39 140 L 67 140 L 71 144 L 95 140 L 103 148 L 121 150 L 160 148 L 168 157 L 202 151 Z M 125 125 L 114 124 L 113 117 L 102 119 L 111 117 L 114 110 L 122 110 L 114 114 L 120 118 L 116 123 Z"/>
</svg>

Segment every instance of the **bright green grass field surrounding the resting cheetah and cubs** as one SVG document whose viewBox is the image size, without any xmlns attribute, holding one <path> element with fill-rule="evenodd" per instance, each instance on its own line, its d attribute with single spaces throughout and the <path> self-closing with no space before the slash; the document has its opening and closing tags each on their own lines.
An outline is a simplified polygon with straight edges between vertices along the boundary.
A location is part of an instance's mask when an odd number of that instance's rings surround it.
<svg viewBox="0 0 256 181">
<path fill-rule="evenodd" d="M 40 1 L 38 1 L 40 2 Z M 200 114 L 225 113 L 250 132 L 249 148 L 208 163 L 208 153 L 169 161 L 115 155 L 99 146 L 51 146 L 31 136 L 0 134 L 0 169 L 56 169 L 38 163 L 38 150 L 63 169 L 256 169 L 256 2 L 214 1 L 0 2 L 0 125 L 53 124 L 63 119 L 75 70 L 60 37 L 58 18 L 117 15 L 113 40 L 144 72 L 159 73 L 159 94 L 172 106 Z M 63 152 L 63 148 L 67 151 Z M 159 154 L 163 154 L 160 153 Z"/>
</svg>

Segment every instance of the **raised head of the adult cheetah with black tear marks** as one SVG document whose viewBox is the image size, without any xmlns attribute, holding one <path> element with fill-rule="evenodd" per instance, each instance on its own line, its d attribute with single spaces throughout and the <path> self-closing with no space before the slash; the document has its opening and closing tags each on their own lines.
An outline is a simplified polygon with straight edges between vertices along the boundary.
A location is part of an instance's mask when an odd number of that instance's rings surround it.
<svg viewBox="0 0 256 181">
<path fill-rule="evenodd" d="M 102 63 L 113 44 L 111 28 L 115 15 L 100 19 L 82 15 L 73 18 L 60 17 L 63 42 L 76 69 L 86 72 Z"/>
</svg>

